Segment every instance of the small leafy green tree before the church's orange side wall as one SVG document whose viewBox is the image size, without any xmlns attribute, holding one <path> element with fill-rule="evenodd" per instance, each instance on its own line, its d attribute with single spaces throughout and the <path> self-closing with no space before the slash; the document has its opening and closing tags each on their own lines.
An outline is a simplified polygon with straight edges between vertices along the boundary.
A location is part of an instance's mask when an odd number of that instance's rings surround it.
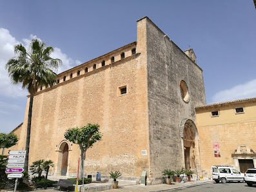
<svg viewBox="0 0 256 192">
<path fill-rule="evenodd" d="M 93 144 L 98 140 L 101 140 L 102 133 L 99 131 L 98 124 L 87 124 L 81 128 L 70 128 L 64 133 L 64 137 L 78 144 L 81 149 L 81 162 L 79 165 L 79 178 L 82 178 L 82 170 L 84 164 L 83 154 L 86 153 L 87 149 L 92 148 Z"/>
</svg>

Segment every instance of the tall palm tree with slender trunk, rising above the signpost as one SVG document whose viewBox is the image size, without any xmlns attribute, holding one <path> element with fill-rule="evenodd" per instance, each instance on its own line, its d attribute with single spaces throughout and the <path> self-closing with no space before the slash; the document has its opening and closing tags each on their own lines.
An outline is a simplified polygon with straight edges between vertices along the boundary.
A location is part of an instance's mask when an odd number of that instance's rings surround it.
<svg viewBox="0 0 256 192">
<path fill-rule="evenodd" d="M 30 129 L 32 119 L 32 106 L 34 94 L 41 86 L 52 86 L 56 81 L 56 73 L 53 71 L 62 64 L 61 59 L 53 59 L 50 54 L 54 48 L 47 46 L 38 39 L 32 39 L 28 50 L 22 44 L 14 46 L 14 53 L 6 63 L 6 70 L 14 84 L 22 84 L 30 93 L 30 104 L 28 108 L 28 126 L 26 131 L 26 158 L 25 170 L 28 171 L 28 153 L 30 146 Z"/>
</svg>

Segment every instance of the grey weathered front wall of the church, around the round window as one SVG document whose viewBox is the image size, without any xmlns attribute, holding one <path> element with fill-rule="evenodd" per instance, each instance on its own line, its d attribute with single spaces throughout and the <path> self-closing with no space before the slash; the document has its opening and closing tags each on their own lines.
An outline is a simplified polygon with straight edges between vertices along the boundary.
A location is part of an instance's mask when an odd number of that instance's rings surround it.
<svg viewBox="0 0 256 192">
<path fill-rule="evenodd" d="M 144 17 L 146 25 L 150 177 L 183 166 L 181 122 L 195 120 L 195 106 L 206 104 L 202 70 L 165 34 Z M 188 86 L 190 99 L 181 97 L 180 82 Z"/>
</svg>

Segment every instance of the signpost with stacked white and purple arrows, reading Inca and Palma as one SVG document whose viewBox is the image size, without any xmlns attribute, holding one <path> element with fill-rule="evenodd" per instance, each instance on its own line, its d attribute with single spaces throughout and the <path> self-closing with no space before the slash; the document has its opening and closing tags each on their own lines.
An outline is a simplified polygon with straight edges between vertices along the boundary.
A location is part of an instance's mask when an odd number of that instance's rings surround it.
<svg viewBox="0 0 256 192">
<path fill-rule="evenodd" d="M 18 178 L 23 177 L 24 163 L 25 163 L 26 151 L 9 151 L 8 164 L 5 173 L 8 174 L 7 178 L 16 178 L 14 192 L 17 189 Z"/>
</svg>

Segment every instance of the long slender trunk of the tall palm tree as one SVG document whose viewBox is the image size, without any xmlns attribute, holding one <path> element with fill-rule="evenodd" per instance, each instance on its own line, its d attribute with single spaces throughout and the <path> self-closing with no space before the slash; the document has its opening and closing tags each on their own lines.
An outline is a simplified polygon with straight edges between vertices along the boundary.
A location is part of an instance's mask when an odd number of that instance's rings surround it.
<svg viewBox="0 0 256 192">
<path fill-rule="evenodd" d="M 30 93 L 30 102 L 28 108 L 28 126 L 26 127 L 26 157 L 25 157 L 25 171 L 28 171 L 28 153 L 30 146 L 30 130 L 31 130 L 31 119 L 32 119 L 32 106 L 33 106 L 34 93 Z"/>
</svg>

